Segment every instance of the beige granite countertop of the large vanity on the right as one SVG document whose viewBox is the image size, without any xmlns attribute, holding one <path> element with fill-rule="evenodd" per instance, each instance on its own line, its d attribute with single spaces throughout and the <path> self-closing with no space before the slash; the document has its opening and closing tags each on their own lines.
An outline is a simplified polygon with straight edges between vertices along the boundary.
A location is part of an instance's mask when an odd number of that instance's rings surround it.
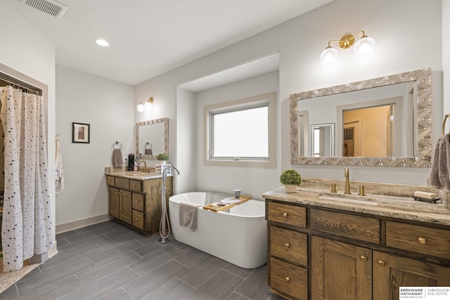
<svg viewBox="0 0 450 300">
<path fill-rule="evenodd" d="M 363 214 L 375 216 L 386 216 L 397 219 L 421 221 L 439 225 L 450 226 L 450 207 L 446 202 L 428 203 L 420 202 L 413 197 L 397 197 L 391 195 L 371 195 L 365 197 L 352 193 L 352 197 L 362 200 L 361 203 L 349 203 L 336 200 L 319 199 L 320 195 L 331 195 L 329 190 L 319 188 L 297 187 L 296 193 L 285 193 L 284 188 L 276 188 L 262 194 L 262 197 L 283 202 L 293 202 L 316 207 L 326 207 L 330 209 L 340 209 L 342 211 L 356 211 Z M 339 192 L 340 197 L 345 197 Z M 371 205 L 362 204 L 364 200 L 369 200 Z M 376 204 L 375 204 L 375 203 Z"/>
</svg>

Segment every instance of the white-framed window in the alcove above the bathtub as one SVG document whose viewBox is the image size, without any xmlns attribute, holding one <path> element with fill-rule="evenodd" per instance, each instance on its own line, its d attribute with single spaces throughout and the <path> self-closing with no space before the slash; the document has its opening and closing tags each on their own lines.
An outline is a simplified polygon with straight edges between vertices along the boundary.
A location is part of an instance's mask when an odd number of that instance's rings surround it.
<svg viewBox="0 0 450 300">
<path fill-rule="evenodd" d="M 275 167 L 276 93 L 204 108 L 205 164 Z"/>
</svg>

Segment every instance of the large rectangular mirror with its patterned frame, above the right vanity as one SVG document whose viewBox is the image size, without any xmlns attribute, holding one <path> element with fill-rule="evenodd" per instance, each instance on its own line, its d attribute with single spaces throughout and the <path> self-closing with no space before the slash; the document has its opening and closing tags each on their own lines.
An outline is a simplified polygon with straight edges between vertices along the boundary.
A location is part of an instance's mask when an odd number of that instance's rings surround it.
<svg viewBox="0 0 450 300">
<path fill-rule="evenodd" d="M 431 104 L 430 69 L 292 94 L 291 163 L 430 167 Z M 335 151 L 314 147 L 308 124 L 334 122 Z"/>
</svg>

